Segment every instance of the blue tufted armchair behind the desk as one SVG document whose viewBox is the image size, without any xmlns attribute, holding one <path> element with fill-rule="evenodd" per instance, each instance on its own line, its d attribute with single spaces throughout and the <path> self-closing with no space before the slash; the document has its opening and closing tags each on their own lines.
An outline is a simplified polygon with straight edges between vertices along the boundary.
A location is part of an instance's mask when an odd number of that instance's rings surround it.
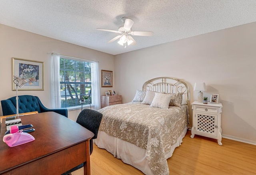
<svg viewBox="0 0 256 175">
<path fill-rule="evenodd" d="M 3 115 L 16 114 L 16 96 L 1 100 L 1 104 Z M 37 96 L 19 95 L 19 113 L 32 111 L 38 111 L 38 113 L 53 111 L 68 117 L 68 109 L 48 109 Z"/>
</svg>

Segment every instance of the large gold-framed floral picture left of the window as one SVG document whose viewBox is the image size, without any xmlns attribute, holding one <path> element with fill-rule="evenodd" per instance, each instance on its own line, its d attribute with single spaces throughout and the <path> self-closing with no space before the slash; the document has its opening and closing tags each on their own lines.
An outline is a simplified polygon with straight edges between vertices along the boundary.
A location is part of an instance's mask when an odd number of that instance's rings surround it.
<svg viewBox="0 0 256 175">
<path fill-rule="evenodd" d="M 12 58 L 12 77 L 26 78 L 26 83 L 18 90 L 44 90 L 44 62 Z M 16 90 L 12 82 L 12 90 Z"/>
</svg>

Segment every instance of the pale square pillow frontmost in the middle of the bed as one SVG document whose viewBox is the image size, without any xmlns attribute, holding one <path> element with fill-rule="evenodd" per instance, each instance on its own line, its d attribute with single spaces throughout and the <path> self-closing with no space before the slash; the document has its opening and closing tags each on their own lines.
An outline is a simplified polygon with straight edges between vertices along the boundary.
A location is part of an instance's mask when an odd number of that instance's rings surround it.
<svg viewBox="0 0 256 175">
<path fill-rule="evenodd" d="M 158 107 L 161 109 L 168 109 L 171 100 L 171 94 L 155 93 L 151 107 Z"/>
</svg>

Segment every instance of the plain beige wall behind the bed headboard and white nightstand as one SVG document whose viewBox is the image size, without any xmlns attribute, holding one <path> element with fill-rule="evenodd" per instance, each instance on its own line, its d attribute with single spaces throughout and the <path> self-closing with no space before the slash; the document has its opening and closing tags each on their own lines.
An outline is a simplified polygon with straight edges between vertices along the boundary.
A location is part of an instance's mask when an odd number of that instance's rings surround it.
<svg viewBox="0 0 256 175">
<path fill-rule="evenodd" d="M 192 103 L 194 83 L 205 82 L 204 96 L 219 94 L 224 106 L 222 133 L 256 144 L 255 31 L 256 22 L 117 55 L 116 90 L 126 103 L 147 80 L 174 77 L 188 83 Z"/>
</svg>

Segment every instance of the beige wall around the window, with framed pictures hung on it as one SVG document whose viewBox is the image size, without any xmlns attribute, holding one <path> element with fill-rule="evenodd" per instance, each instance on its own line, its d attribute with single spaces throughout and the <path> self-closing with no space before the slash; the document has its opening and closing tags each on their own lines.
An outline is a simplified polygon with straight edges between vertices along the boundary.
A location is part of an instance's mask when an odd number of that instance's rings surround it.
<svg viewBox="0 0 256 175">
<path fill-rule="evenodd" d="M 12 57 L 37 60 L 44 62 L 44 90 L 19 91 L 18 94 L 36 95 L 46 107 L 50 107 L 50 55 L 47 54 L 48 52 L 99 61 L 100 70 L 114 71 L 113 55 L 0 24 L 0 81 L 2 82 L 0 100 L 16 96 L 16 91 L 12 91 Z M 101 95 L 104 95 L 106 90 L 114 89 L 114 85 L 113 81 L 113 88 L 101 88 Z M 69 111 L 68 117 L 76 119 L 79 112 L 80 110 Z M 2 107 L 0 107 L 0 115 L 2 115 Z"/>
</svg>

